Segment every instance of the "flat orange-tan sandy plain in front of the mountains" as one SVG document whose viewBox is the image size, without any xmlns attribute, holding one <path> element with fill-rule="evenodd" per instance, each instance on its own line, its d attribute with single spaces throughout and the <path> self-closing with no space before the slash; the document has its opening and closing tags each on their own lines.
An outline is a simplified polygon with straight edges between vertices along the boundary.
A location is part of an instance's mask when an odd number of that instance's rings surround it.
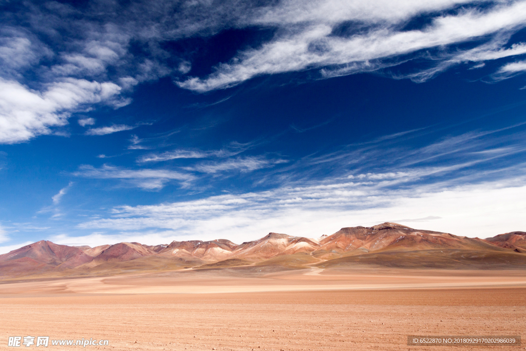
<svg viewBox="0 0 526 351">
<path fill-rule="evenodd" d="M 0 284 L 0 349 L 31 335 L 108 339 L 86 348 L 113 350 L 518 350 L 526 342 L 421 347 L 407 336 L 525 331 L 522 271 L 220 269 Z"/>
</svg>

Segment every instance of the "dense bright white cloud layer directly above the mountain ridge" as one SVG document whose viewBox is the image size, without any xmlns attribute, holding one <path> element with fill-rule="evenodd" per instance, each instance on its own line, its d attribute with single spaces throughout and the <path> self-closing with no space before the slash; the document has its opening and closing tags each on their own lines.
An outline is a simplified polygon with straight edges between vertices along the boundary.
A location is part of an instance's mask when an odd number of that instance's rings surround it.
<svg viewBox="0 0 526 351">
<path fill-rule="evenodd" d="M 319 237 L 341 227 L 416 216 L 418 228 L 488 237 L 526 227 L 523 184 L 524 179 L 514 184 L 422 186 L 407 191 L 360 183 L 281 188 L 191 202 L 116 207 L 111 217 L 90 220 L 80 227 L 117 230 L 122 237 L 130 233 L 139 242 L 151 244 L 159 239 L 156 235 L 163 235 L 163 242 L 191 237 L 227 238 L 239 243 L 270 231 Z M 498 200 L 488 202 L 488 198 Z"/>
</svg>

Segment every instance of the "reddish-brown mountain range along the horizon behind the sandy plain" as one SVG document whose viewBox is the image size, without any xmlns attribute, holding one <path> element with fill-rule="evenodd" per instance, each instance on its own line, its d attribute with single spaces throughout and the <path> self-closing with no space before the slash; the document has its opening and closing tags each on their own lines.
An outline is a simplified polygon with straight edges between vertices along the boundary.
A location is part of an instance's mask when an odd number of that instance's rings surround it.
<svg viewBox="0 0 526 351">
<path fill-rule="evenodd" d="M 230 240 L 67 246 L 47 240 L 0 255 L 0 278 L 98 276 L 184 268 L 236 266 L 402 268 L 526 268 L 526 233 L 479 239 L 397 223 L 341 228 L 319 238 L 269 233 L 241 244 Z"/>
</svg>

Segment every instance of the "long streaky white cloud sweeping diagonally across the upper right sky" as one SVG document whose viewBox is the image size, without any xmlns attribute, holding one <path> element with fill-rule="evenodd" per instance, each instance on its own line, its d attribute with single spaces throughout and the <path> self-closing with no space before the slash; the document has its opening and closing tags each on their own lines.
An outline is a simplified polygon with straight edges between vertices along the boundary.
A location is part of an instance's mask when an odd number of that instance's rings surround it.
<svg viewBox="0 0 526 351">
<path fill-rule="evenodd" d="M 269 11 L 269 23 L 283 25 L 290 21 L 298 21 L 298 17 L 285 16 L 285 13 L 290 15 L 291 12 L 299 12 L 299 18 L 305 18 L 306 23 L 283 31 L 273 41 L 260 48 L 239 53 L 231 62 L 218 65 L 216 71 L 204 79 L 191 77 L 178 85 L 206 92 L 236 85 L 262 74 L 302 71 L 317 67 L 325 67 L 322 73 L 327 77 L 374 71 L 397 65 L 404 60 L 397 60 L 396 56 L 472 41 L 495 33 L 502 36 L 524 27 L 526 23 L 526 2 L 519 1 L 501 3 L 486 11 L 465 10 L 458 14 L 436 17 L 429 26 L 422 29 L 399 31 L 396 26 L 384 23 L 372 26 L 365 34 L 333 35 L 335 25 L 340 23 L 335 21 L 358 20 L 369 25 L 379 20 L 397 23 L 422 11 L 423 6 L 437 6 L 434 9 L 438 9 L 446 4 L 452 5 L 452 2 L 426 2 L 422 7 L 414 2 L 393 2 L 392 5 L 385 2 L 369 3 L 370 5 L 360 5 L 358 2 L 326 1 L 321 5 L 313 5 L 309 2 L 307 6 L 302 6 L 303 11 L 295 11 L 292 7 L 285 6 L 278 14 Z M 381 8 L 380 5 L 385 7 Z M 320 8 L 322 11 L 319 13 L 309 12 L 320 11 Z M 393 13 L 385 13 L 386 8 L 392 9 Z M 320 16 L 321 14 L 323 16 Z M 261 22 L 265 19 L 264 16 Z M 520 44 L 515 49 L 499 49 L 497 52 L 494 48 L 488 48 L 488 53 L 479 51 L 478 55 L 485 59 L 518 55 L 524 53 L 523 46 Z M 483 47 L 480 46 L 479 49 Z M 445 69 L 447 65 L 437 67 Z"/>
</svg>

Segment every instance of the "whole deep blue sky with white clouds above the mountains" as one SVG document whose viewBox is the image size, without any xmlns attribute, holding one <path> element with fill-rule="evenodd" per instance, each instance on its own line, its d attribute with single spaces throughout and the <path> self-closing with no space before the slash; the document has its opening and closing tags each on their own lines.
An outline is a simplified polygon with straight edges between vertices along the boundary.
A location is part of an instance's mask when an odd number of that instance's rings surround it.
<svg viewBox="0 0 526 351">
<path fill-rule="evenodd" d="M 0 0 L 0 253 L 526 230 L 526 1 Z"/>
</svg>

